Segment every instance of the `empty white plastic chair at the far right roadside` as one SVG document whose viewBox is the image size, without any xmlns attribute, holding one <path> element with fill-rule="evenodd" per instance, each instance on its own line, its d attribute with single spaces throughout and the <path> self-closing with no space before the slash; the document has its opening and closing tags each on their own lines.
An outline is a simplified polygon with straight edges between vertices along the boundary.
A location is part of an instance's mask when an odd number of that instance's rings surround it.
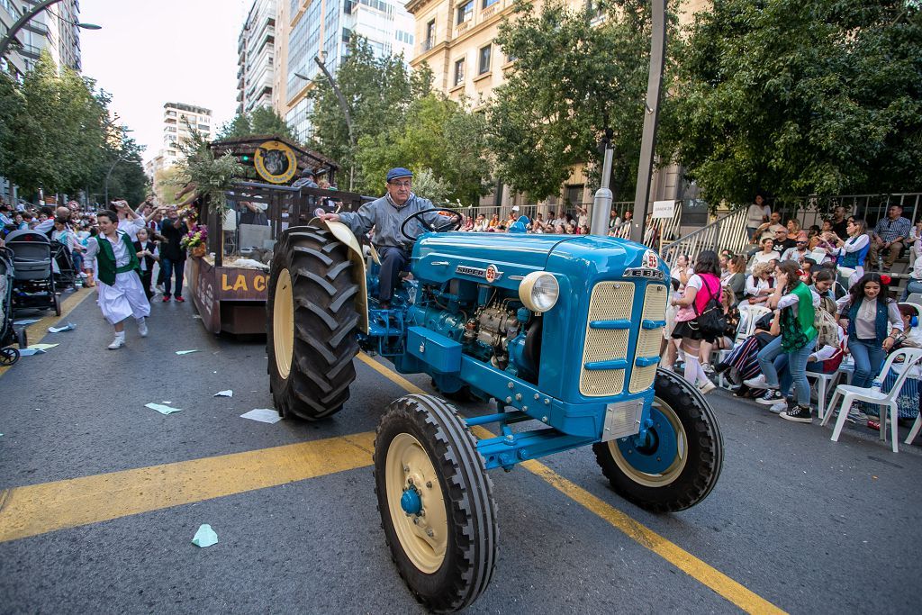
<svg viewBox="0 0 922 615">
<path fill-rule="evenodd" d="M 892 442 L 893 453 L 897 453 L 897 417 L 899 416 L 899 409 L 896 406 L 896 398 L 900 395 L 900 389 L 903 388 L 903 383 L 906 380 L 906 377 L 913 371 L 912 368 L 919 362 L 922 361 L 922 349 L 899 349 L 893 352 L 887 361 L 883 363 L 883 369 L 881 369 L 881 374 L 878 376 L 878 380 L 883 382 L 883 379 L 887 377 L 887 374 L 890 373 L 892 369 L 893 361 L 898 357 L 903 357 L 903 371 L 896 377 L 896 381 L 893 383 L 892 388 L 889 393 L 882 393 L 881 391 L 874 391 L 870 388 L 863 388 L 860 386 L 853 386 L 851 384 L 839 384 L 835 387 L 835 393 L 833 393 L 833 399 L 829 404 L 829 412 L 826 413 L 826 416 L 823 417 L 821 424 L 825 425 L 829 422 L 829 418 L 833 416 L 833 408 L 835 408 L 835 402 L 842 396 L 842 407 L 839 408 L 839 418 L 835 420 L 835 428 L 833 429 L 833 437 L 830 438 L 833 442 L 839 441 L 839 434 L 842 433 L 842 428 L 845 426 L 845 420 L 848 418 L 848 410 L 852 408 L 852 404 L 855 401 L 866 401 L 875 406 L 881 408 L 881 441 L 887 441 L 887 417 L 889 411 L 890 417 L 890 439 Z M 914 426 L 915 429 L 915 426 Z"/>
</svg>

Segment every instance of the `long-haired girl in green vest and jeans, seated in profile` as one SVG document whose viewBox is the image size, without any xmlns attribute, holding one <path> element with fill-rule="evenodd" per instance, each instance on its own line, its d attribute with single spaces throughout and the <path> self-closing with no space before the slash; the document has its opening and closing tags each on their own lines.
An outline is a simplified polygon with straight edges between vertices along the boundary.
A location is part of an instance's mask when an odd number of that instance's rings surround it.
<svg viewBox="0 0 922 615">
<path fill-rule="evenodd" d="M 774 359 L 782 352 L 787 354 L 787 369 L 794 384 L 796 404 L 779 416 L 785 420 L 810 423 L 810 383 L 807 381 L 807 359 L 816 345 L 817 330 L 813 326 L 815 309 L 820 298 L 798 278 L 800 267 L 794 261 L 783 261 L 774 270 L 777 287 L 770 305 L 775 306 L 772 333 L 779 333 L 772 342 L 759 351 L 762 373 L 744 384 L 751 388 L 767 389 L 763 399 L 774 397 L 773 404 L 784 399 L 778 391 L 778 373 Z"/>
</svg>

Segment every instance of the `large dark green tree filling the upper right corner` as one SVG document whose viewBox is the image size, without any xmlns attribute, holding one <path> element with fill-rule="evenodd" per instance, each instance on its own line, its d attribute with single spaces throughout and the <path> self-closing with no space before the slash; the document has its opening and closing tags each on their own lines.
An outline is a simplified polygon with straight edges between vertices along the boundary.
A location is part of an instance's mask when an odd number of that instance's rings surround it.
<svg viewBox="0 0 922 615">
<path fill-rule="evenodd" d="M 712 201 L 922 189 L 922 18 L 909 0 L 715 0 L 661 135 Z"/>
</svg>

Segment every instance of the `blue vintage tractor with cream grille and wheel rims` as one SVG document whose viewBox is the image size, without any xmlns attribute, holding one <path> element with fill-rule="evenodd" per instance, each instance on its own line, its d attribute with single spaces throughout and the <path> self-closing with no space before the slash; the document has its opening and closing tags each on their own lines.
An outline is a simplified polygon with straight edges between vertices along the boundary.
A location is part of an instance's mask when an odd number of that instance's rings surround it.
<svg viewBox="0 0 922 615">
<path fill-rule="evenodd" d="M 488 470 L 591 445 L 614 491 L 668 513 L 700 503 L 723 462 L 703 396 L 658 369 L 669 276 L 655 252 L 526 234 L 523 220 L 508 233 L 456 228 L 404 222 L 412 275 L 389 309 L 376 300 L 375 255 L 320 219 L 284 233 L 268 292 L 268 371 L 283 416 L 342 408 L 360 349 L 429 374 L 441 393 L 392 402 L 374 449 L 385 538 L 410 590 L 436 611 L 467 607 L 490 583 Z M 443 397 L 496 409 L 466 419 Z"/>
</svg>

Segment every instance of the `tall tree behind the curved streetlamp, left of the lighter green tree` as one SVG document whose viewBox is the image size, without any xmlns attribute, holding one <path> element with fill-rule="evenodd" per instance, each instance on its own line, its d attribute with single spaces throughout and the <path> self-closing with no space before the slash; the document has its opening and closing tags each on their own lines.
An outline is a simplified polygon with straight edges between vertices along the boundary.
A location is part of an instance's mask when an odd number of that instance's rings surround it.
<svg viewBox="0 0 922 615">
<path fill-rule="evenodd" d="M 314 88 L 309 94 L 313 104 L 310 114 L 313 135 L 308 145 L 339 163 L 345 172 L 345 179 L 339 182 L 341 186 L 348 185 L 352 167 L 356 171 L 355 185 L 364 185 L 365 172 L 357 164 L 357 148 L 349 139 L 336 93 L 319 69 L 314 74 Z M 356 144 L 361 138 L 377 143 L 379 136 L 403 125 L 411 102 L 431 89 L 429 70 L 411 74 L 403 56 L 376 58 L 372 47 L 359 36 L 350 39 L 349 53 L 334 77 L 349 109 Z M 381 178 L 372 177 L 370 181 L 376 188 L 374 192 L 381 192 Z"/>
</svg>

